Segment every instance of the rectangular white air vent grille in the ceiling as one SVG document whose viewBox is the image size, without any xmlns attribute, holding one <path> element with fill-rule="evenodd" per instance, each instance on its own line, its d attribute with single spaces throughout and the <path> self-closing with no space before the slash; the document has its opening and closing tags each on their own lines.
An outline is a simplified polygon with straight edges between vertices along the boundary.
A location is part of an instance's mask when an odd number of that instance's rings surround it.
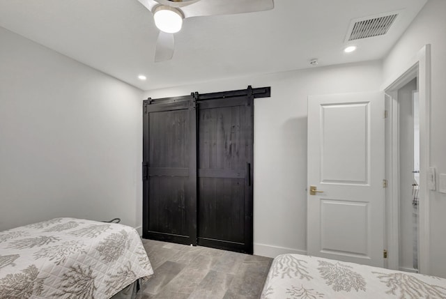
<svg viewBox="0 0 446 299">
<path fill-rule="evenodd" d="M 383 36 L 389 31 L 390 26 L 392 26 L 397 16 L 398 13 L 392 13 L 353 20 L 349 26 L 346 42 L 360 40 L 362 38 L 372 38 L 374 36 Z"/>
</svg>

